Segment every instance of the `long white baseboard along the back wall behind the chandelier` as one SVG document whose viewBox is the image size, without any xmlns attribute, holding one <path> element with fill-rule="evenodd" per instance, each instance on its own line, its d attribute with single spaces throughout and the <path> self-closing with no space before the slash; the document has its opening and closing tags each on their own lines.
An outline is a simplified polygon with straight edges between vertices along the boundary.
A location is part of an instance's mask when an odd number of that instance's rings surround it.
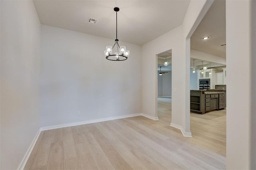
<svg viewBox="0 0 256 170">
<path fill-rule="evenodd" d="M 94 119 L 94 120 L 88 120 L 88 121 L 78 121 L 78 122 L 73 122 L 73 123 L 66 123 L 66 124 L 61 124 L 61 125 L 46 126 L 46 127 L 41 127 L 41 131 L 46 131 L 46 130 L 50 130 L 50 129 L 58 129 L 58 128 L 62 128 L 62 127 L 85 125 L 85 124 L 89 124 L 89 123 L 97 123 L 97 122 L 109 121 L 109 120 L 115 120 L 115 119 L 123 119 L 126 117 L 134 117 L 134 116 L 140 116 L 140 115 L 141 115 L 141 113 L 136 113 L 136 114 L 130 114 L 130 115 L 107 117 L 107 118 L 103 118 L 103 119 Z"/>
</svg>

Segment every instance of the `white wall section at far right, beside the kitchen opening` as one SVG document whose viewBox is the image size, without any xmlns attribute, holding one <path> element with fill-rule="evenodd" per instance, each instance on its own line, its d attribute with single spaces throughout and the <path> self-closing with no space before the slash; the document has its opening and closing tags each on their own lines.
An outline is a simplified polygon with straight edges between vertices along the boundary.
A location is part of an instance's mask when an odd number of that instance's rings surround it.
<svg viewBox="0 0 256 170">
<path fill-rule="evenodd" d="M 226 0 L 227 169 L 255 169 L 255 164 L 252 168 L 255 159 L 251 155 L 256 145 L 252 143 L 255 136 L 251 133 L 254 131 L 255 134 L 255 125 L 252 124 L 255 121 L 251 122 L 251 119 L 252 115 L 255 116 L 255 107 L 252 110 L 252 106 L 256 103 L 252 98 L 252 94 L 255 95 L 255 84 L 252 84 L 255 68 L 252 72 L 252 66 L 256 64 L 255 56 L 252 56 L 255 46 L 252 46 L 251 40 L 251 7 L 252 0 Z"/>
</svg>

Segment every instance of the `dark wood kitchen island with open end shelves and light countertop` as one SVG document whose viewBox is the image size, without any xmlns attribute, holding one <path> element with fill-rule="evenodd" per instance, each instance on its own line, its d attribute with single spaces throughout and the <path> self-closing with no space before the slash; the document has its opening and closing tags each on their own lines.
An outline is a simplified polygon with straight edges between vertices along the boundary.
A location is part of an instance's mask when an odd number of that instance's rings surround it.
<svg viewBox="0 0 256 170">
<path fill-rule="evenodd" d="M 190 111 L 204 114 L 225 108 L 225 92 L 218 90 L 190 90 Z"/>
</svg>

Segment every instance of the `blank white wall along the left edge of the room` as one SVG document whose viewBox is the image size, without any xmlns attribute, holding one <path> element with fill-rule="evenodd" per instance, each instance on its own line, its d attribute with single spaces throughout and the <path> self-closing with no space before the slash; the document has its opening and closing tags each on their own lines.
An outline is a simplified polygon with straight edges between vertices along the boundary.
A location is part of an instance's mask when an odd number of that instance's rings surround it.
<svg viewBox="0 0 256 170">
<path fill-rule="evenodd" d="M 40 128 L 40 21 L 30 0 L 1 1 L 0 169 L 18 169 Z"/>
</svg>

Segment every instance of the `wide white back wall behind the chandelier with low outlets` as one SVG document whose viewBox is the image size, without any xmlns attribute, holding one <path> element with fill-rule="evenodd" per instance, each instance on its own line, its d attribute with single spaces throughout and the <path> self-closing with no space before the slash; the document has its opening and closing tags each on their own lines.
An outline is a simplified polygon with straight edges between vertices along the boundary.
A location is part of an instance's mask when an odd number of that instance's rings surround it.
<svg viewBox="0 0 256 170">
<path fill-rule="evenodd" d="M 118 62 L 104 57 L 113 39 L 47 25 L 41 38 L 41 127 L 141 113 L 140 45 L 120 42 Z"/>
</svg>

